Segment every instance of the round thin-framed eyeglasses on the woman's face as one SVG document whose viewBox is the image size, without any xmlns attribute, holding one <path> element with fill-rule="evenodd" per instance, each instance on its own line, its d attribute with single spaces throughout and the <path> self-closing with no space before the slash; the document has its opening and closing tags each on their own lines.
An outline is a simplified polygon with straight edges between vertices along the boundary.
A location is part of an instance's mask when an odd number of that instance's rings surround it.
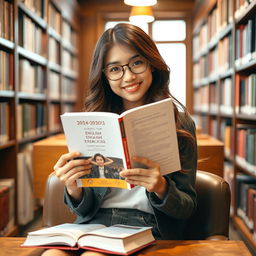
<svg viewBox="0 0 256 256">
<path fill-rule="evenodd" d="M 124 67 L 127 66 L 129 70 L 134 74 L 141 74 L 145 72 L 148 66 L 148 62 L 142 57 L 136 57 L 129 63 L 124 65 L 113 65 L 110 64 L 102 71 L 105 73 L 106 77 L 111 81 L 117 81 L 124 76 Z"/>
</svg>

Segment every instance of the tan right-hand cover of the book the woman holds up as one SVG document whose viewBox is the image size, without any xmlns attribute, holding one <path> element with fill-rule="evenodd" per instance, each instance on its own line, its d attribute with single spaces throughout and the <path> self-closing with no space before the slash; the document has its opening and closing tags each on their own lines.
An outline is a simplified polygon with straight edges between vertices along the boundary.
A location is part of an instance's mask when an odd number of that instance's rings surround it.
<svg viewBox="0 0 256 256">
<path fill-rule="evenodd" d="M 140 107 L 124 117 L 129 156 L 142 156 L 160 164 L 161 173 L 181 169 L 171 99 Z M 140 167 L 132 161 L 132 167 Z"/>
</svg>

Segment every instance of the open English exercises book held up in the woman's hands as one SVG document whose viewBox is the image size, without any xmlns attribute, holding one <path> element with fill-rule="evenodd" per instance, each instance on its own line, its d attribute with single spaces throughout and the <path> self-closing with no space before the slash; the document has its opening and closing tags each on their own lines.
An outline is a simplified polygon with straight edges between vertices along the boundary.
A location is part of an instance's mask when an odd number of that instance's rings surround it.
<svg viewBox="0 0 256 256">
<path fill-rule="evenodd" d="M 123 112 L 74 112 L 61 115 L 69 151 L 92 160 L 92 171 L 78 185 L 83 187 L 131 186 L 119 172 L 144 167 L 132 156 L 160 164 L 162 174 L 181 169 L 173 102 L 165 99 Z M 100 164 L 104 163 L 104 164 Z"/>
</svg>

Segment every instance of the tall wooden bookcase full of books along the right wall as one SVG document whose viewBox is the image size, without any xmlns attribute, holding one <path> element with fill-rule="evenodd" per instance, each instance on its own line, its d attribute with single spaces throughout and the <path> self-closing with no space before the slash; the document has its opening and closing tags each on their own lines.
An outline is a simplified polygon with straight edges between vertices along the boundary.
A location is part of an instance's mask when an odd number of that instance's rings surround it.
<svg viewBox="0 0 256 256">
<path fill-rule="evenodd" d="M 194 114 L 224 143 L 233 223 L 256 251 L 256 1 L 202 1 L 194 12 Z"/>
</svg>

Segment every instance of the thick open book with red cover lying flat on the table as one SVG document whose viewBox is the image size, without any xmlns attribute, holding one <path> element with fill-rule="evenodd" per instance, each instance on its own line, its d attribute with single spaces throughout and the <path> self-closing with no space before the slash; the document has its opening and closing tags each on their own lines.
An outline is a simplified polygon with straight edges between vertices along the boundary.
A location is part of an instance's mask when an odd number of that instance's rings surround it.
<svg viewBox="0 0 256 256">
<path fill-rule="evenodd" d="M 29 232 L 21 246 L 129 255 L 154 241 L 151 227 L 66 223 Z"/>
</svg>

